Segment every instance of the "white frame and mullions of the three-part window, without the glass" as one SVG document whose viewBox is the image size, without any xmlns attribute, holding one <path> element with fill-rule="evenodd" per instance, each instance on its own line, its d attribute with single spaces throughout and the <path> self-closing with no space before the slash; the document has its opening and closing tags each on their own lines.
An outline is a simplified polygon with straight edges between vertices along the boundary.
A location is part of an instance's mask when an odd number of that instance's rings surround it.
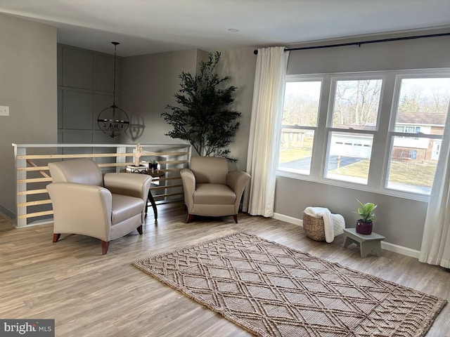
<svg viewBox="0 0 450 337">
<path fill-rule="evenodd" d="M 386 194 L 405 199 L 418 201 L 428 201 L 428 194 L 417 194 L 401 190 L 387 188 L 387 169 L 391 156 L 393 143 L 392 135 L 424 138 L 438 138 L 442 136 L 428 135 L 421 133 L 397 133 L 394 131 L 397 119 L 397 108 L 399 103 L 400 83 L 399 79 L 404 78 L 450 78 L 449 68 L 424 69 L 424 70 L 388 70 L 379 72 L 345 72 L 330 74 L 288 74 L 288 81 L 321 81 L 321 98 L 319 101 L 319 116 L 317 126 L 314 129 L 314 143 L 311 156 L 311 171 L 309 176 L 301 173 L 293 173 L 277 169 L 276 175 L 285 178 L 307 180 L 326 185 L 346 187 L 355 190 L 364 190 L 378 194 Z M 378 105 L 378 122 L 375 131 L 354 130 L 333 128 L 333 105 L 335 100 L 335 83 L 339 80 L 348 79 L 383 79 L 380 90 L 380 104 Z M 334 83 L 334 85 L 333 85 Z M 449 103 L 450 104 L 450 103 Z M 449 113 L 450 114 L 450 113 Z M 450 116 L 447 117 L 447 119 Z M 306 128 L 306 127 L 302 127 Z M 281 131 L 281 126 L 280 126 Z M 344 180 L 334 180 L 326 178 L 326 158 L 330 148 L 330 132 L 344 131 L 349 133 L 370 133 L 373 134 L 373 144 L 371 151 L 371 164 L 369 166 L 367 185 L 351 183 Z M 390 137 L 390 138 L 388 138 Z"/>
</svg>

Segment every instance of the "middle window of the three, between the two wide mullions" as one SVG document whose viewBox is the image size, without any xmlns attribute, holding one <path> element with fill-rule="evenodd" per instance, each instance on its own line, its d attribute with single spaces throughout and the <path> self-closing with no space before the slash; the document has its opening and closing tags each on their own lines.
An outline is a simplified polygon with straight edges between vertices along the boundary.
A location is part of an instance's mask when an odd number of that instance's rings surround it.
<svg viewBox="0 0 450 337">
<path fill-rule="evenodd" d="M 382 83 L 381 79 L 333 79 L 325 178 L 367 184 Z"/>
</svg>

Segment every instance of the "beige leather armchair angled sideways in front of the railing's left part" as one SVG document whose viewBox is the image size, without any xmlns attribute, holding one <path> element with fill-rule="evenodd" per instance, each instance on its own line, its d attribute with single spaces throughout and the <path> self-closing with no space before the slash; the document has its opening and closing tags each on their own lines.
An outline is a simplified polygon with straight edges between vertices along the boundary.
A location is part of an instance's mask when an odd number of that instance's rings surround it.
<svg viewBox="0 0 450 337">
<path fill-rule="evenodd" d="M 91 159 L 49 163 L 53 183 L 47 185 L 53 204 L 53 242 L 61 233 L 101 239 L 102 254 L 111 240 L 134 229 L 142 234 L 148 189 L 144 174 L 105 173 Z"/>
</svg>

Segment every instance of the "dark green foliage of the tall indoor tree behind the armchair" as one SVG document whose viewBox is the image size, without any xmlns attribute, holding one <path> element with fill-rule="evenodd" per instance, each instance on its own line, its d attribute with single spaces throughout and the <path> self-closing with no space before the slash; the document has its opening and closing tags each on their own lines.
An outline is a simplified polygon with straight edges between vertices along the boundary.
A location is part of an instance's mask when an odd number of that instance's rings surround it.
<svg viewBox="0 0 450 337">
<path fill-rule="evenodd" d="M 177 105 L 167 105 L 161 116 L 173 126 L 166 136 L 187 140 L 201 156 L 229 158 L 240 112 L 231 110 L 236 86 L 226 86 L 229 77 L 215 72 L 220 57 L 219 52 L 209 53 L 207 61 L 199 63 L 198 74 L 181 72 L 181 88 L 174 95 Z"/>
</svg>

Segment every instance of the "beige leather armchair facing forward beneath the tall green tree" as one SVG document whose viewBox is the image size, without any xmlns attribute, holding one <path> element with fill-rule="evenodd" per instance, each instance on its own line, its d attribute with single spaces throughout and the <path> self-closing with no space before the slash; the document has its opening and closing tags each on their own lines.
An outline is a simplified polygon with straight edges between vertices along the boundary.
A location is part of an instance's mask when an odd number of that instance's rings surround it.
<svg viewBox="0 0 450 337">
<path fill-rule="evenodd" d="M 187 223 L 193 216 L 233 216 L 238 223 L 240 198 L 250 180 L 243 171 L 228 171 L 228 160 L 192 157 L 191 168 L 180 171 Z"/>
</svg>

